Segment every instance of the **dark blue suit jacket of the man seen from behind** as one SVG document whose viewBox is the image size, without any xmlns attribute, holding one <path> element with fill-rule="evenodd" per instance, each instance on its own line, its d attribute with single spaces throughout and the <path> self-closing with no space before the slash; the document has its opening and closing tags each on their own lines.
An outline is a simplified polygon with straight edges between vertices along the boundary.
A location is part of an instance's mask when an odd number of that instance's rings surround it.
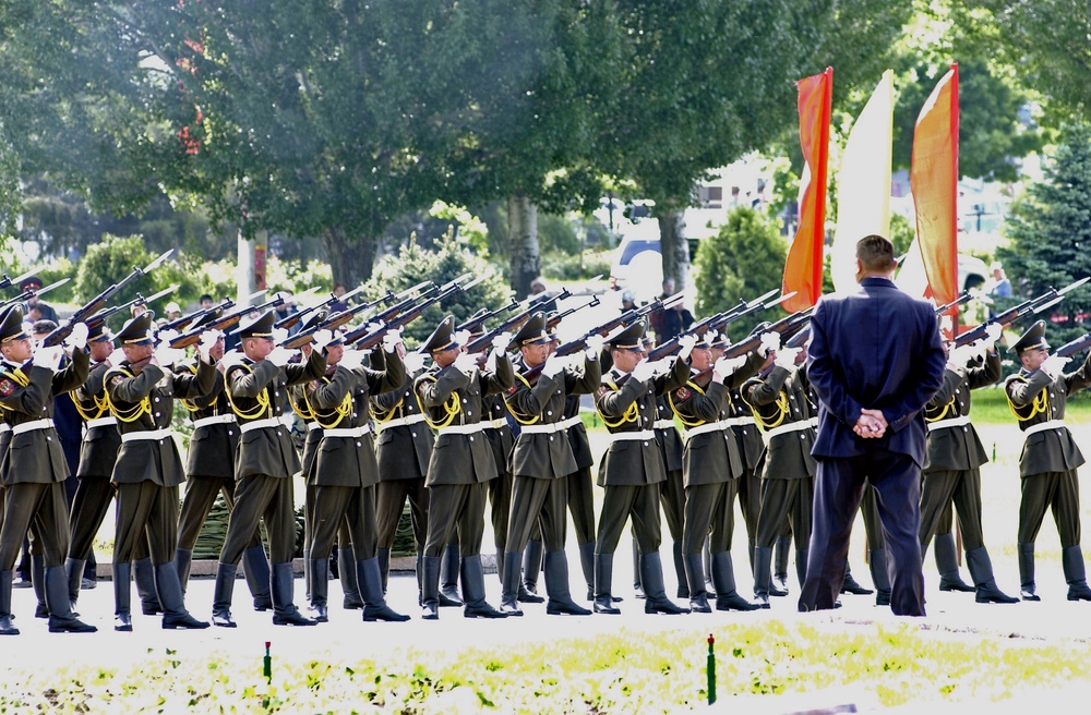
<svg viewBox="0 0 1091 715">
<path fill-rule="evenodd" d="M 924 405 L 943 385 L 947 359 L 934 308 L 886 278 L 864 278 L 851 293 L 824 295 L 811 318 L 807 377 L 818 395 L 812 453 L 909 455 L 924 464 Z M 862 409 L 879 409 L 880 439 L 852 432 Z"/>
</svg>

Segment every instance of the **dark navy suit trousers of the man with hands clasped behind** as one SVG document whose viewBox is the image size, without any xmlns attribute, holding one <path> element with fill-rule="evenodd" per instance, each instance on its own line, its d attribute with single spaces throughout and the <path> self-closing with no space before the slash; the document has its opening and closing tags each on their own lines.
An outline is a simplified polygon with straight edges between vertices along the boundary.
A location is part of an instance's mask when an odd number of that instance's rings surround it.
<svg viewBox="0 0 1091 715">
<path fill-rule="evenodd" d="M 815 485 L 814 528 L 800 610 L 834 608 L 848 563 L 849 532 L 864 487 L 871 483 L 891 562 L 890 609 L 924 615 L 921 568 L 921 470 L 908 455 L 874 451 L 822 458 Z"/>
</svg>

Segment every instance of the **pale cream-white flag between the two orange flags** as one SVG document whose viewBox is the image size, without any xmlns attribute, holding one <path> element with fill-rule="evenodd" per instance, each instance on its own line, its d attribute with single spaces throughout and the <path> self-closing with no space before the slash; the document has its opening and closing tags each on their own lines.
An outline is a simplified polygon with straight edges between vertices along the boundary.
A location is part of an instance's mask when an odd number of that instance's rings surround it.
<svg viewBox="0 0 1091 715">
<path fill-rule="evenodd" d="M 837 227 L 829 245 L 834 289 L 856 286 L 856 241 L 890 238 L 890 163 L 894 147 L 894 72 L 883 73 L 856 117 L 837 173 Z"/>
</svg>

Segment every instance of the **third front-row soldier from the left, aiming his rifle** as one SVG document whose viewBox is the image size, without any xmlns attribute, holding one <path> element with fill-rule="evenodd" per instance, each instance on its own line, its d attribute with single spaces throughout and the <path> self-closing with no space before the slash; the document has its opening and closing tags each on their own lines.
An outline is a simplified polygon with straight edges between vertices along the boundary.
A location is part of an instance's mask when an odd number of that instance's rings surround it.
<svg viewBox="0 0 1091 715">
<path fill-rule="evenodd" d="M 299 471 L 299 458 L 281 415 L 288 386 L 319 379 L 325 374 L 326 361 L 321 351 L 313 350 L 305 363 L 289 365 L 291 351 L 273 343 L 273 311 L 244 320 L 236 332 L 243 355 L 229 353 L 220 364 L 241 433 L 235 466 L 238 484 L 216 570 L 213 623 L 235 628 L 231 594 L 236 571 L 254 530 L 265 519 L 273 565 L 273 625 L 313 626 L 314 621 L 304 618 L 292 603 L 296 510 L 291 480 Z"/>
</svg>

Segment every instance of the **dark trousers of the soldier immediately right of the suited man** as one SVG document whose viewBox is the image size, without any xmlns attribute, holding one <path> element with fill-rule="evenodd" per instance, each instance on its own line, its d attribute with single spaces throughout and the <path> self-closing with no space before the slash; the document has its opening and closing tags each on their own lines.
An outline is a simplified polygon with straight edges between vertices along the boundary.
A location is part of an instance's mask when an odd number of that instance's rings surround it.
<svg viewBox="0 0 1091 715">
<path fill-rule="evenodd" d="M 922 553 L 928 549 L 933 536 L 950 531 L 952 501 L 958 509 L 958 525 L 962 531 L 966 550 L 972 552 L 984 546 L 981 529 L 981 470 L 940 470 L 925 472 L 924 486 L 921 487 Z"/>
</svg>

